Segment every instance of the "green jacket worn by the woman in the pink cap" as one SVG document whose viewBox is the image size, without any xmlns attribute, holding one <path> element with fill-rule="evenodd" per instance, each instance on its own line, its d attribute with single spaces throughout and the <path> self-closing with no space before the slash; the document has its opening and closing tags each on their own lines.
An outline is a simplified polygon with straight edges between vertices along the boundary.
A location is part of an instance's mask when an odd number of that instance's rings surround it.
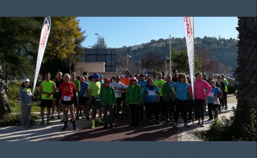
<svg viewBox="0 0 257 158">
<path fill-rule="evenodd" d="M 140 85 L 135 85 L 133 88 L 132 85 L 129 85 L 126 91 L 126 103 L 137 104 L 143 101 L 142 89 Z"/>
</svg>

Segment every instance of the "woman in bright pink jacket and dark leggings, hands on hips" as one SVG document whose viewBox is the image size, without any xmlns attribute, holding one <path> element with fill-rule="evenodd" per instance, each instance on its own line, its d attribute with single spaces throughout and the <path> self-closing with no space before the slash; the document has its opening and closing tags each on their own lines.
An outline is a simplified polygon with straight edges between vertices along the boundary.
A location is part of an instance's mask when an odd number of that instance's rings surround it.
<svg viewBox="0 0 257 158">
<path fill-rule="evenodd" d="M 208 89 L 207 94 L 205 93 L 205 88 Z M 204 104 L 206 102 L 207 96 L 212 90 L 211 86 L 205 80 L 202 80 L 202 74 L 196 74 L 196 80 L 194 81 L 194 106 L 196 109 L 196 119 L 198 119 L 197 127 L 204 127 Z M 193 96 L 192 85 L 189 87 L 189 93 Z M 202 119 L 202 122 L 200 122 Z"/>
</svg>

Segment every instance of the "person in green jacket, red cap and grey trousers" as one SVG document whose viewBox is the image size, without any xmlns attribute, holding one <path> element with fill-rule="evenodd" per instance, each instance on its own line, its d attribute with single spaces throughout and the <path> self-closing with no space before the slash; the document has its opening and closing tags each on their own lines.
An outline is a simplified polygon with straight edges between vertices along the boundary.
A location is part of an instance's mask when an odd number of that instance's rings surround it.
<svg viewBox="0 0 257 158">
<path fill-rule="evenodd" d="M 110 86 L 110 79 L 106 78 L 104 80 L 104 86 L 100 89 L 99 93 L 100 103 L 103 105 L 103 129 L 108 128 L 108 116 L 107 112 L 109 110 L 110 116 L 110 128 L 113 127 L 113 105 L 117 106 L 116 93 L 113 86 Z"/>
</svg>

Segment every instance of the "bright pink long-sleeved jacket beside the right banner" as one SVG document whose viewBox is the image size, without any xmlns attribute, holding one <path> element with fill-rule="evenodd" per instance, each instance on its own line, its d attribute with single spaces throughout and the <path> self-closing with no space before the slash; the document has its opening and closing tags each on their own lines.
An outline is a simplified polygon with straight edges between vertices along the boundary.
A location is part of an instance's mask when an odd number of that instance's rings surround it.
<svg viewBox="0 0 257 158">
<path fill-rule="evenodd" d="M 201 80 L 201 81 L 194 81 L 194 99 L 203 99 L 205 100 L 204 96 L 205 96 L 205 87 L 208 89 L 207 91 L 207 95 L 210 94 L 212 88 L 210 87 L 209 83 L 206 82 L 205 80 Z M 189 93 L 190 96 L 193 96 L 192 93 L 192 85 L 190 85 L 189 87 Z"/>
</svg>

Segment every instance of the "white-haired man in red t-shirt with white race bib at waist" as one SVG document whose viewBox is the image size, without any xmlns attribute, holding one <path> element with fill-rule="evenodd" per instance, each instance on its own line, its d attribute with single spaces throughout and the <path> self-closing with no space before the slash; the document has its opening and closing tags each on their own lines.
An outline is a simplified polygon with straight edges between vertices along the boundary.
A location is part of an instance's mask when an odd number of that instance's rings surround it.
<svg viewBox="0 0 257 158">
<path fill-rule="evenodd" d="M 65 130 L 68 128 L 67 126 L 67 109 L 66 107 L 69 108 L 69 112 L 72 118 L 72 123 L 73 123 L 73 130 L 78 130 L 78 128 L 75 125 L 75 114 L 74 114 L 74 105 L 78 105 L 78 97 L 76 94 L 76 87 L 74 85 L 74 83 L 70 82 L 70 75 L 69 74 L 65 74 L 63 76 L 64 81 L 63 83 L 61 83 L 60 87 L 59 87 L 59 91 L 58 91 L 58 97 L 60 98 L 60 103 L 62 105 L 62 109 L 63 109 L 63 120 L 64 121 L 64 127 L 62 128 L 62 130 Z"/>
</svg>

